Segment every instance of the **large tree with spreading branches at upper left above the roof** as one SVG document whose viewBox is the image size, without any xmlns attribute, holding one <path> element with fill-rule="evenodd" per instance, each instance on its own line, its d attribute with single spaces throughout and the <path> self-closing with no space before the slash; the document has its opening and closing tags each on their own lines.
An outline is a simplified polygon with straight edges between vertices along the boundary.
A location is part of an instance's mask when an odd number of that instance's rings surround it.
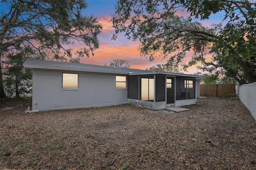
<svg viewBox="0 0 256 170">
<path fill-rule="evenodd" d="M 7 0 L 0 12 L 0 97 L 6 97 L 2 66 L 16 45 L 46 52 L 56 60 L 79 62 L 98 48 L 102 25 L 93 16 L 82 16 L 84 0 Z M 80 49 L 72 51 L 72 44 Z M 72 55 L 74 52 L 75 56 Z M 92 53 L 93 55 L 93 53 Z"/>
</svg>

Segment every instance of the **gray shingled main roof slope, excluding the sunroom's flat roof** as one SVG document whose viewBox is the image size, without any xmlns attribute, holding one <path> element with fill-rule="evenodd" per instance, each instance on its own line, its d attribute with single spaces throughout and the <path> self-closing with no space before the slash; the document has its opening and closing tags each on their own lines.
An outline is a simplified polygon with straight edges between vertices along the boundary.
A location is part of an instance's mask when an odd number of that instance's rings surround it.
<svg viewBox="0 0 256 170">
<path fill-rule="evenodd" d="M 82 63 L 68 63 L 59 61 L 48 61 L 39 59 L 28 59 L 23 64 L 25 68 L 36 68 L 36 69 L 58 69 L 58 70 L 72 70 L 72 71 L 89 71 L 89 72 L 100 72 L 100 73 L 120 73 L 129 74 L 145 72 L 146 70 L 130 69 L 124 67 L 110 67 L 103 65 L 92 65 Z"/>
</svg>

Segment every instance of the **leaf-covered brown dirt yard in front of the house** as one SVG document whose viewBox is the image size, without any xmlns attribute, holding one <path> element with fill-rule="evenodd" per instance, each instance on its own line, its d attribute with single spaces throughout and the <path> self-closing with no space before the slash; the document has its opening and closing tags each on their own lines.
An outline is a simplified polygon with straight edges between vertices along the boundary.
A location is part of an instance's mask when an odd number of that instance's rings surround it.
<svg viewBox="0 0 256 170">
<path fill-rule="evenodd" d="M 256 121 L 239 99 L 201 98 L 181 113 L 24 113 L 30 104 L 1 103 L 13 109 L 0 111 L 0 169 L 256 169 Z"/>
</svg>

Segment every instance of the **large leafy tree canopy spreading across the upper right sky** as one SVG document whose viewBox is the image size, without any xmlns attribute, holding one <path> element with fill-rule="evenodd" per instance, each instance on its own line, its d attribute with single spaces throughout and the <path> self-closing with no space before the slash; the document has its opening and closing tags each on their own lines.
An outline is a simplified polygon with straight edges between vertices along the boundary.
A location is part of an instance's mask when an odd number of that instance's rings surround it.
<svg viewBox="0 0 256 170">
<path fill-rule="evenodd" d="M 128 39 L 140 40 L 142 56 L 150 61 L 159 54 L 170 57 L 184 69 L 198 62 L 202 70 L 219 71 L 240 83 L 256 81 L 256 8 L 248 0 L 118 0 L 112 18 L 116 39 L 125 32 Z M 189 18 L 179 16 L 187 11 Z M 225 12 L 225 26 L 211 28 L 192 19 L 207 20 Z M 194 55 L 185 64 L 186 51 Z M 209 58 L 209 56 L 212 56 Z"/>
</svg>

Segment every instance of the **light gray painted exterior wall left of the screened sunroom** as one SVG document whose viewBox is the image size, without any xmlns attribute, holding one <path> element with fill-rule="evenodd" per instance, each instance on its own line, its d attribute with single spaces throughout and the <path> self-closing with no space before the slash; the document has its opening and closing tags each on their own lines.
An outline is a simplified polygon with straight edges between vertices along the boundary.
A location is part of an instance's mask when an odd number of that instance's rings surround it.
<svg viewBox="0 0 256 170">
<path fill-rule="evenodd" d="M 79 74 L 78 90 L 62 90 L 62 73 Z M 127 89 L 116 89 L 116 74 L 33 69 L 33 110 L 102 107 L 125 103 Z"/>
</svg>

